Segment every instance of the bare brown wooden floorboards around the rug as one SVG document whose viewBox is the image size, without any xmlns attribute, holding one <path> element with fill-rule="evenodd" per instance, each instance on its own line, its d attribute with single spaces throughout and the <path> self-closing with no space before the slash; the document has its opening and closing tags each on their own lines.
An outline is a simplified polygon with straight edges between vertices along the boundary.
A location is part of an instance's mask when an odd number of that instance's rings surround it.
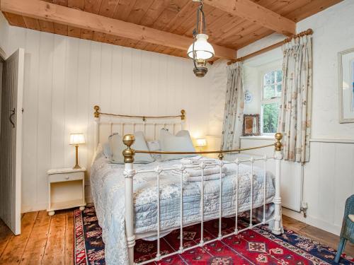
<svg viewBox="0 0 354 265">
<path fill-rule="evenodd" d="M 287 228 L 336 249 L 338 236 L 295 219 L 283 216 Z M 74 212 L 46 211 L 23 214 L 21 235 L 14 236 L 0 220 L 0 264 L 73 264 Z M 348 243 L 346 254 L 354 256 L 354 245 Z"/>
</svg>

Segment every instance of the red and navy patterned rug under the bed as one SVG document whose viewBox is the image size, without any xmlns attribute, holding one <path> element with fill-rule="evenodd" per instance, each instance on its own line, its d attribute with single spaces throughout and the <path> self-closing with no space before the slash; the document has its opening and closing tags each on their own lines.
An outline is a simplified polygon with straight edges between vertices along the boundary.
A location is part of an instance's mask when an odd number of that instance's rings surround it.
<svg viewBox="0 0 354 265">
<path fill-rule="evenodd" d="M 95 208 L 87 206 L 84 211 L 75 210 L 75 264 L 105 264 L 102 230 L 98 225 Z M 246 222 L 239 221 L 239 229 Z M 219 220 L 204 223 L 204 240 L 215 238 Z M 222 233 L 234 230 L 234 218 L 222 219 Z M 175 230 L 161 238 L 161 254 L 179 248 L 180 232 Z M 200 225 L 183 229 L 184 247 L 200 242 Z M 212 242 L 183 254 L 176 254 L 151 264 L 336 264 L 336 250 L 285 228 L 282 235 L 273 235 L 267 225 L 246 230 L 222 241 Z M 135 262 L 156 256 L 156 241 L 137 240 Z M 342 254 L 339 264 L 354 264 L 354 258 Z"/>
</svg>

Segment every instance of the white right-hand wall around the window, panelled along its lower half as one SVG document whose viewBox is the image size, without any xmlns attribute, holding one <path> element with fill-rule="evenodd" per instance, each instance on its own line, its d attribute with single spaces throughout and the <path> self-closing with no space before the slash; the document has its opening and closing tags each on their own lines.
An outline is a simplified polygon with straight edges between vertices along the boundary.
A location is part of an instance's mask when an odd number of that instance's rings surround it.
<svg viewBox="0 0 354 265">
<path fill-rule="evenodd" d="M 336 234 L 345 200 L 354 194 L 354 124 L 338 122 L 337 61 L 338 52 L 354 47 L 353 13 L 354 2 L 346 0 L 297 23 L 297 32 L 314 30 L 312 141 L 310 162 L 304 166 L 304 201 L 309 208 L 307 218 L 287 209 L 283 213 Z M 270 35 L 239 50 L 239 56 L 279 40 L 279 35 Z M 249 141 L 242 140 L 241 146 L 250 145 Z M 293 170 L 296 176 L 285 176 L 283 181 L 298 177 L 299 172 Z M 283 196 L 289 191 L 288 181 L 282 185 Z"/>
</svg>

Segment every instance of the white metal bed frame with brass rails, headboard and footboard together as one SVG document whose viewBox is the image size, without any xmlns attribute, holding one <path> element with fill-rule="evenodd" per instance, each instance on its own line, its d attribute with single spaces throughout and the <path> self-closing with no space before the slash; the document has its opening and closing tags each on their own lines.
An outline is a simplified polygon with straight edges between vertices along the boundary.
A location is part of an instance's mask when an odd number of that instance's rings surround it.
<svg viewBox="0 0 354 265">
<path fill-rule="evenodd" d="M 125 163 L 125 170 L 124 170 L 124 176 L 125 176 L 125 233 L 127 237 L 127 248 L 128 248 L 128 257 L 129 257 L 129 264 L 135 264 L 134 262 L 134 246 L 135 246 L 135 240 L 138 238 L 144 238 L 148 237 L 151 235 L 157 235 L 157 253 L 156 257 L 154 259 L 150 259 L 148 261 L 143 261 L 139 264 L 147 264 L 152 261 L 159 261 L 161 259 L 164 259 L 166 257 L 170 257 L 174 254 L 182 254 L 183 252 L 186 252 L 190 249 L 194 249 L 195 247 L 203 247 L 205 244 L 208 244 L 210 242 L 215 242 L 217 240 L 222 240 L 225 237 L 229 237 L 230 235 L 237 235 L 240 232 L 243 232 L 244 230 L 249 230 L 252 229 L 256 226 L 263 225 L 265 223 L 269 223 L 270 221 L 274 221 L 274 226 L 272 232 L 275 235 L 280 235 L 282 232 L 282 217 L 281 217 L 281 198 L 280 198 L 280 172 L 281 172 L 281 160 L 282 160 L 282 134 L 278 133 L 275 134 L 275 152 L 272 156 L 267 157 L 264 156 L 263 158 L 249 158 L 246 160 L 239 160 L 236 159 L 233 162 L 227 162 L 223 161 L 223 153 L 229 153 L 229 152 L 235 152 L 235 151 L 245 151 L 245 150 L 250 150 L 250 149 L 258 149 L 258 148 L 265 148 L 273 145 L 268 145 L 268 146 L 258 146 L 254 148 L 244 148 L 244 149 L 238 149 L 234 151 L 205 151 L 205 152 L 151 152 L 151 151 L 136 151 L 130 148 L 132 144 L 134 143 L 135 139 L 132 133 L 135 133 L 135 128 L 137 125 L 143 127 L 144 133 L 146 133 L 146 127 L 147 125 L 151 125 L 154 127 L 154 137 L 153 139 L 156 140 L 156 126 L 158 125 L 163 125 L 163 126 L 172 126 L 173 127 L 173 132 L 175 131 L 176 126 L 181 126 L 181 129 L 185 129 L 185 111 L 182 110 L 180 115 L 176 116 L 163 116 L 163 117 L 147 117 L 147 116 L 128 116 L 128 115 L 119 115 L 119 114 L 109 114 L 109 113 L 103 113 L 99 112 L 100 108 L 98 106 L 94 107 L 94 117 L 95 117 L 95 135 L 94 135 L 94 141 L 95 141 L 95 148 L 98 146 L 98 143 L 100 142 L 100 125 L 101 124 L 108 124 L 110 128 L 110 134 L 113 134 L 113 126 L 114 125 L 119 125 L 120 126 L 120 134 L 124 135 L 125 134 L 125 125 L 129 124 L 132 126 L 132 131 L 130 131 L 130 134 L 126 134 L 124 136 L 123 142 L 127 146 L 127 148 L 123 151 L 123 156 L 124 156 L 124 163 Z M 142 122 L 101 122 L 100 116 L 101 115 L 107 115 L 110 117 L 120 117 L 120 118 L 129 118 L 129 119 L 142 119 Z M 166 122 L 166 123 L 160 123 L 160 122 L 147 122 L 147 119 L 181 119 L 180 122 Z M 201 223 L 201 236 L 200 236 L 200 243 L 198 245 L 192 246 L 192 247 L 183 247 L 183 170 L 185 170 L 186 166 L 185 165 L 180 165 L 179 167 L 169 167 L 169 168 L 163 168 L 163 167 L 156 167 L 154 170 L 135 170 L 133 167 L 133 162 L 134 162 L 134 155 L 135 153 L 160 153 L 160 154 L 205 154 L 205 153 L 219 153 L 219 162 L 215 163 L 215 165 L 219 166 L 219 234 L 218 237 L 213 239 L 213 240 L 208 240 L 205 242 L 203 240 L 203 223 L 204 223 L 204 169 L 205 169 L 205 164 L 200 163 L 200 165 L 193 165 L 193 166 L 188 166 L 188 167 L 195 167 L 195 168 L 200 168 L 202 170 L 202 180 L 201 180 L 201 196 L 200 196 L 200 223 Z M 275 160 L 275 196 L 273 199 L 273 203 L 275 205 L 275 211 L 274 211 L 274 216 L 273 218 L 270 218 L 269 220 L 265 220 L 265 172 L 267 168 L 267 161 L 273 159 Z M 263 220 L 260 223 L 253 224 L 252 223 L 252 211 L 253 211 L 253 163 L 255 163 L 258 160 L 262 160 L 264 162 L 264 176 L 263 176 Z M 236 164 L 237 170 L 236 170 L 236 201 L 235 201 L 235 230 L 232 233 L 229 233 L 228 235 L 222 235 L 222 166 L 225 164 Z M 239 164 L 240 163 L 251 163 L 251 177 L 250 177 L 250 182 L 251 182 L 251 193 L 250 193 L 250 201 L 251 201 L 251 206 L 250 206 L 250 218 L 249 218 L 249 226 L 242 229 L 238 230 L 237 228 L 237 216 L 238 216 L 238 183 L 239 183 Z M 148 233 L 140 233 L 140 234 L 135 234 L 135 229 L 134 229 L 134 205 L 133 205 L 133 178 L 135 175 L 143 172 L 156 172 L 156 182 L 157 182 L 157 189 L 156 193 L 160 194 L 160 186 L 159 186 L 159 179 L 161 172 L 164 171 L 170 171 L 170 170 L 179 170 L 181 172 L 181 192 L 180 192 L 180 233 L 181 233 L 181 241 L 180 241 L 180 248 L 176 252 L 172 252 L 169 254 L 161 255 L 160 253 L 160 235 L 161 235 L 161 228 L 160 228 L 160 196 L 158 196 L 157 200 L 157 229 L 156 232 L 148 232 Z M 191 223 L 188 223 L 188 225 L 191 225 Z M 185 224 L 187 226 L 187 224 Z M 174 228 L 171 230 L 175 230 Z M 169 232 L 168 231 L 162 231 L 162 232 Z"/>
</svg>

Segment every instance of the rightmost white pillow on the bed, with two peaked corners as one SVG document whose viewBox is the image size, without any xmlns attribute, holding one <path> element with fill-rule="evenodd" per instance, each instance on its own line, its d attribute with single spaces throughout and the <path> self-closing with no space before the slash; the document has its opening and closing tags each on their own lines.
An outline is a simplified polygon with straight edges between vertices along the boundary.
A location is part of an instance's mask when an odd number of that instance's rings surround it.
<svg viewBox="0 0 354 265">
<path fill-rule="evenodd" d="M 192 139 L 190 139 L 189 131 L 178 131 L 175 135 L 171 134 L 166 129 L 161 129 L 160 132 L 161 151 L 176 151 L 176 152 L 195 152 Z M 172 160 L 180 158 L 188 158 L 195 155 L 161 155 L 161 160 Z"/>
</svg>

